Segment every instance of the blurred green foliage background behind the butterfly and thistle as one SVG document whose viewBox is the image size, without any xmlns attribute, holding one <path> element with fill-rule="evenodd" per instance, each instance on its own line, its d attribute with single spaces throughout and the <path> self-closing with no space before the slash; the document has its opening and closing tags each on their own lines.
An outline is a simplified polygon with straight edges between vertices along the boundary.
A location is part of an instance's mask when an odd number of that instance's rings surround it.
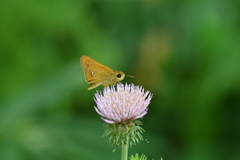
<svg viewBox="0 0 240 160">
<path fill-rule="evenodd" d="M 153 93 L 149 159 L 240 159 L 240 1 L 0 1 L 0 159 L 120 159 L 88 55 Z"/>
</svg>

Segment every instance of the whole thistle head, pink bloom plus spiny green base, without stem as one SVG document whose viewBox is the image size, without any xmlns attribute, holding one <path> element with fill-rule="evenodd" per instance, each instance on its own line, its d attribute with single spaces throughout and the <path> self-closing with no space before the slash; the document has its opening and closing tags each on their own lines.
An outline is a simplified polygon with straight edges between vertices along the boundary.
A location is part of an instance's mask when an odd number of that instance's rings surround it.
<svg viewBox="0 0 240 160">
<path fill-rule="evenodd" d="M 117 84 L 104 88 L 103 92 L 95 94 L 94 107 L 96 112 L 106 122 L 104 135 L 107 141 L 114 146 L 132 146 L 143 140 L 137 120 L 147 114 L 152 94 L 134 84 Z"/>
</svg>

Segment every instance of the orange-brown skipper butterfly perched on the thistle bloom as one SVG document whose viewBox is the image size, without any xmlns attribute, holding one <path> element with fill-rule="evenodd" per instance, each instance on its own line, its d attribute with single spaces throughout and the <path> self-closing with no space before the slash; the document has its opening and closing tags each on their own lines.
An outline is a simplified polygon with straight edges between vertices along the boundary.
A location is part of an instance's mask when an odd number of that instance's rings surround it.
<svg viewBox="0 0 240 160">
<path fill-rule="evenodd" d="M 110 69 L 88 56 L 83 55 L 80 58 L 80 63 L 85 73 L 85 79 L 87 83 L 90 84 L 88 90 L 93 89 L 99 85 L 103 85 L 104 87 L 115 85 L 125 77 L 125 74 L 123 72 Z"/>
</svg>

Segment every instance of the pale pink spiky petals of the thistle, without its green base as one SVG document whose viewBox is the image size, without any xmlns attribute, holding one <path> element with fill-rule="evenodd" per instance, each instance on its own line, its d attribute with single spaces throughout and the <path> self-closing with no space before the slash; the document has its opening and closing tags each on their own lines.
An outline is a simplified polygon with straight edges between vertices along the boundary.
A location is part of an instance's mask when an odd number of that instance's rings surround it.
<svg viewBox="0 0 240 160">
<path fill-rule="evenodd" d="M 117 84 L 117 89 L 105 87 L 95 94 L 96 112 L 110 124 L 142 118 L 147 114 L 152 94 L 134 84 Z"/>
</svg>

